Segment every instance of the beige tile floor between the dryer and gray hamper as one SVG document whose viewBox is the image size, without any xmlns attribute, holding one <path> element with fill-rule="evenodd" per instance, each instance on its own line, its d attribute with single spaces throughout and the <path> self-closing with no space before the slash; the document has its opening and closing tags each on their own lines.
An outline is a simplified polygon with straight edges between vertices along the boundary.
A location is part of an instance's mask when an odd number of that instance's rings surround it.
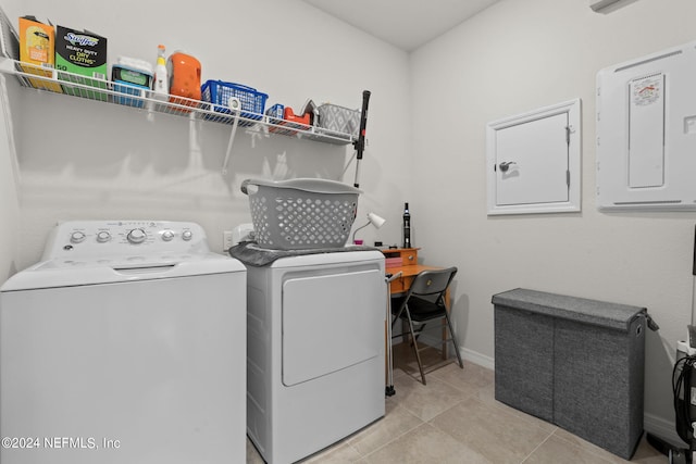
<svg viewBox="0 0 696 464">
<path fill-rule="evenodd" d="M 395 347 L 396 394 L 386 415 L 303 463 L 617 464 L 627 461 L 494 399 L 494 373 L 464 362 L 426 374 Z M 438 355 L 433 350 L 434 356 Z M 664 464 L 645 438 L 632 463 Z M 247 463 L 263 460 L 247 439 Z"/>
</svg>

